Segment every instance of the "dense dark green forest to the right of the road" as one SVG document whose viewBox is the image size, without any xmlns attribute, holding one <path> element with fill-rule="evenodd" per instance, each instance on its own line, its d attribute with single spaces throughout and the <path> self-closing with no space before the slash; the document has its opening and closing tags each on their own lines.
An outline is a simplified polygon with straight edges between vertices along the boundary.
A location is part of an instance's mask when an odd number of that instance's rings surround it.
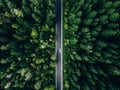
<svg viewBox="0 0 120 90">
<path fill-rule="evenodd" d="M 64 32 L 64 90 L 120 90 L 120 0 L 65 0 Z"/>
</svg>

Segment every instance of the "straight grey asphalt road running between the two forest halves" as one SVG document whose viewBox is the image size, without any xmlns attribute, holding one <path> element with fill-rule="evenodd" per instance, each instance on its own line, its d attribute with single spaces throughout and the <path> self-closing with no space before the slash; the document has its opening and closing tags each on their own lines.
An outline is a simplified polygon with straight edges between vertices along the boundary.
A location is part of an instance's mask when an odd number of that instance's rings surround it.
<svg viewBox="0 0 120 90">
<path fill-rule="evenodd" d="M 56 90 L 63 90 L 62 0 L 56 0 Z"/>
</svg>

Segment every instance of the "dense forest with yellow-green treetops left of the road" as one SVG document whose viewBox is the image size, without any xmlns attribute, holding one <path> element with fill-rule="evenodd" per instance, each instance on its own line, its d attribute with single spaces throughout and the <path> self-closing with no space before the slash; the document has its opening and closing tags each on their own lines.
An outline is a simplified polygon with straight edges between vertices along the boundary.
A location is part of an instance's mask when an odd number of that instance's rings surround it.
<svg viewBox="0 0 120 90">
<path fill-rule="evenodd" d="M 0 0 L 0 90 L 54 90 L 55 0 Z"/>
</svg>

